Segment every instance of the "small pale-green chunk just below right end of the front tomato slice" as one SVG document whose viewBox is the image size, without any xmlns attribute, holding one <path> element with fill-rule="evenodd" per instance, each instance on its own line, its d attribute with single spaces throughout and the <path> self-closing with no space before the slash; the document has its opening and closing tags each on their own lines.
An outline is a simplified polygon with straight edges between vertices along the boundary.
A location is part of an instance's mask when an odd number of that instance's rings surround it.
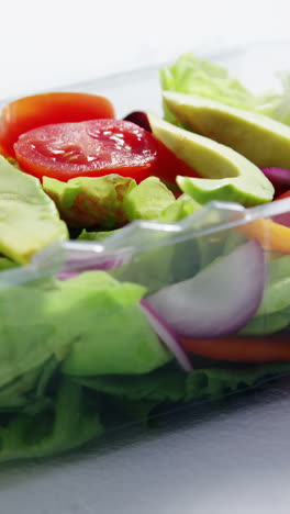
<svg viewBox="0 0 290 514">
<path fill-rule="evenodd" d="M 157 177 L 148 177 L 125 197 L 124 211 L 129 221 L 156 220 L 172 203 L 174 193 Z"/>
</svg>

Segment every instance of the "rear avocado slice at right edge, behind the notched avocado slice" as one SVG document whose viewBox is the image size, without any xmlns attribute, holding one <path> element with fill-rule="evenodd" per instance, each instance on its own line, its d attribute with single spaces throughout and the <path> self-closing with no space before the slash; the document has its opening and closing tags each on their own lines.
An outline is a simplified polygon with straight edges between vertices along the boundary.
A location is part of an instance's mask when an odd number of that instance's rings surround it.
<svg viewBox="0 0 290 514">
<path fill-rule="evenodd" d="M 191 94 L 165 92 L 164 102 L 186 128 L 231 146 L 259 168 L 290 168 L 290 127 L 283 123 Z"/>
</svg>

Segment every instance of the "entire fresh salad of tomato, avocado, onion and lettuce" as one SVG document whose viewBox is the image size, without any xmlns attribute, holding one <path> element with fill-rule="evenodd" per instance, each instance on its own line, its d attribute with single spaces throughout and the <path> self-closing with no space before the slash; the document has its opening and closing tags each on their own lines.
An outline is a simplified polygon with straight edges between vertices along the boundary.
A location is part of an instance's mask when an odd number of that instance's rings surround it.
<svg viewBox="0 0 290 514">
<path fill-rule="evenodd" d="M 2 110 L 1 461 L 290 371 L 289 78 L 255 96 L 191 54 L 159 77 L 163 116 L 142 91 L 123 120 L 87 93 Z"/>
</svg>

